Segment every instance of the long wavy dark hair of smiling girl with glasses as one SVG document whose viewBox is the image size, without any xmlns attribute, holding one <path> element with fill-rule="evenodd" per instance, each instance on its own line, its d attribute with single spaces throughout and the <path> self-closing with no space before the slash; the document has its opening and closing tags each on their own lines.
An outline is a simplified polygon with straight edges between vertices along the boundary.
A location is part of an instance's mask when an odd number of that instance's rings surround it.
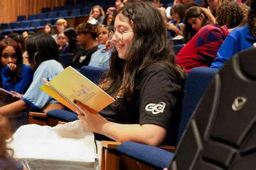
<svg viewBox="0 0 256 170">
<path fill-rule="evenodd" d="M 114 47 L 110 70 L 103 75 L 99 84 L 103 90 L 114 95 L 125 95 L 131 101 L 133 90 L 139 88 L 134 82 L 137 74 L 152 63 L 169 67 L 172 77 L 179 84 L 184 84 L 184 70 L 176 65 L 164 19 L 157 8 L 149 2 L 128 3 L 116 13 L 116 17 L 130 22 L 134 36 L 125 60 L 118 57 Z"/>
</svg>

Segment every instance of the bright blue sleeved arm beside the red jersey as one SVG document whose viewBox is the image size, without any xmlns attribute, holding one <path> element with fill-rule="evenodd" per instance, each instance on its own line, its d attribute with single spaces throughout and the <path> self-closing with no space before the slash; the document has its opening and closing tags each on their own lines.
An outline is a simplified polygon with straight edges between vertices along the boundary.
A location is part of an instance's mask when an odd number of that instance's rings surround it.
<svg viewBox="0 0 256 170">
<path fill-rule="evenodd" d="M 238 51 L 237 41 L 233 37 L 227 36 L 223 44 L 221 44 L 211 68 L 220 69 Z"/>
</svg>

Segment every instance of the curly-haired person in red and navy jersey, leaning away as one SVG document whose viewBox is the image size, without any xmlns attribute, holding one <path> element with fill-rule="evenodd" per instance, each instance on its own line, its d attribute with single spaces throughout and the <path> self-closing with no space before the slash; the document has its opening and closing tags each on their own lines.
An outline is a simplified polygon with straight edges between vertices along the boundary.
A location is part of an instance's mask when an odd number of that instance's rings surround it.
<svg viewBox="0 0 256 170">
<path fill-rule="evenodd" d="M 230 26 L 238 26 L 244 17 L 242 12 L 235 13 L 232 11 L 238 8 L 240 6 L 237 2 L 221 3 L 217 9 L 217 23 L 220 25 L 208 24 L 204 26 L 179 51 L 176 62 L 185 67 L 186 73 L 194 67 L 211 66 L 221 44 L 229 33 Z M 237 11 L 241 11 L 241 9 Z M 226 18 L 224 19 L 224 17 Z"/>
</svg>

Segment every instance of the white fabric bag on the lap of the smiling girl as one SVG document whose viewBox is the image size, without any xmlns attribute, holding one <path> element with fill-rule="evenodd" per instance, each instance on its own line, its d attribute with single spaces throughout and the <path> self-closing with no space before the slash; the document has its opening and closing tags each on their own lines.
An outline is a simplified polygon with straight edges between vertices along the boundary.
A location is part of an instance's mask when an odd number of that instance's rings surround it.
<svg viewBox="0 0 256 170">
<path fill-rule="evenodd" d="M 12 136 L 8 147 L 15 158 L 38 158 L 95 162 L 94 134 L 76 120 L 55 127 L 24 125 Z"/>
</svg>

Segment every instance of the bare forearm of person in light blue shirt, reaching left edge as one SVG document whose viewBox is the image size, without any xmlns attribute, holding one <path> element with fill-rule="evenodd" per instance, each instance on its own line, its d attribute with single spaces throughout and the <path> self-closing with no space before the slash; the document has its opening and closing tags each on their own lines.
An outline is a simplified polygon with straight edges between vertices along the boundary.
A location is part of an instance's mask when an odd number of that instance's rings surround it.
<svg viewBox="0 0 256 170">
<path fill-rule="evenodd" d="M 15 113 L 25 111 L 27 108 L 29 108 L 28 104 L 26 104 L 23 100 L 18 100 L 9 105 L 0 107 L 0 114 L 5 116 L 12 115 Z"/>
</svg>

